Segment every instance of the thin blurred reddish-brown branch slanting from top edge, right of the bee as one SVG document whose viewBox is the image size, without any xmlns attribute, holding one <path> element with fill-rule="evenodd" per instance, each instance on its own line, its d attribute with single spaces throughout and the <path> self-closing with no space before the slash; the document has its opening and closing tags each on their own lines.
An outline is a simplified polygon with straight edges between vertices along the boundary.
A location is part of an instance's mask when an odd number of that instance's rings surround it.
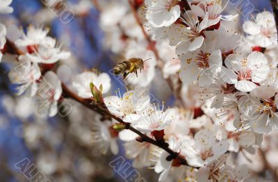
<svg viewBox="0 0 278 182">
<path fill-rule="evenodd" d="M 186 1 L 186 3 L 188 4 L 188 2 Z M 161 69 L 161 72 L 163 72 L 163 68 L 164 68 L 164 63 L 162 61 L 162 59 L 160 58 L 159 54 L 158 54 L 158 50 L 156 49 L 156 42 L 152 40 L 152 38 L 149 37 L 149 35 L 147 34 L 147 32 L 145 31 L 145 28 L 142 24 L 142 21 L 140 19 L 140 17 L 138 16 L 137 10 L 134 6 L 134 4 L 132 3 L 131 0 L 129 0 L 129 6 L 131 7 L 131 10 L 133 12 L 133 16 L 136 19 L 136 22 L 138 23 L 138 25 L 140 26 L 142 33 L 145 36 L 145 39 L 147 40 L 147 42 L 149 43 L 149 47 L 151 48 L 151 50 L 154 52 L 154 56 L 156 56 L 156 60 L 157 60 L 157 67 L 159 69 Z M 189 4 L 188 4 L 189 6 Z M 189 7 L 190 8 L 190 7 Z M 174 87 L 174 83 L 172 82 L 172 79 L 170 77 L 165 78 L 165 81 L 167 82 L 167 84 L 169 85 L 169 88 L 172 90 L 172 92 L 174 93 L 174 97 L 176 98 L 176 104 L 178 106 L 182 106 L 183 105 L 183 100 L 181 98 L 181 90 L 179 90 L 179 88 L 175 88 Z M 179 84 L 181 84 L 181 81 L 179 80 Z"/>
</svg>

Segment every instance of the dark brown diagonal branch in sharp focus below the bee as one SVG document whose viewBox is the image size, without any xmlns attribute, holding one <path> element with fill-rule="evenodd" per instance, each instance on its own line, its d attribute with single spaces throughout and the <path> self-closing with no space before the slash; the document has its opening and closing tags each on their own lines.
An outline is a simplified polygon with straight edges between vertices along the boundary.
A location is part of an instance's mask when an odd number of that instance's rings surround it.
<svg viewBox="0 0 278 182">
<path fill-rule="evenodd" d="M 178 160 L 180 160 L 181 165 L 188 165 L 188 163 L 186 162 L 186 159 L 183 156 L 177 154 L 177 152 L 170 149 L 167 142 L 156 141 L 156 140 L 150 138 L 149 136 L 145 135 L 144 133 L 141 133 L 140 131 L 138 131 L 138 129 L 135 129 L 135 128 L 133 128 L 133 126 L 130 126 L 129 123 L 124 122 L 120 117 L 117 117 L 117 116 L 113 115 L 112 113 L 110 113 L 108 109 L 99 106 L 99 104 L 95 103 L 95 101 L 93 101 L 92 99 L 83 99 L 83 98 L 79 97 L 77 94 L 75 94 L 70 89 L 68 89 L 64 83 L 62 83 L 62 88 L 63 88 L 63 96 L 64 97 L 70 97 L 70 98 L 74 99 L 75 101 L 78 101 L 79 103 L 83 104 L 83 106 L 86 106 L 87 108 L 95 110 L 97 113 L 99 113 L 101 115 L 103 115 L 103 114 L 109 115 L 113 119 L 117 120 L 117 122 L 126 124 L 126 129 L 129 129 L 130 131 L 133 131 L 134 133 L 138 134 L 141 137 L 142 142 L 148 142 L 150 144 L 154 144 L 154 145 L 156 145 L 156 147 L 159 147 L 159 148 L 167 151 L 172 156 L 172 158 L 177 158 Z"/>
</svg>

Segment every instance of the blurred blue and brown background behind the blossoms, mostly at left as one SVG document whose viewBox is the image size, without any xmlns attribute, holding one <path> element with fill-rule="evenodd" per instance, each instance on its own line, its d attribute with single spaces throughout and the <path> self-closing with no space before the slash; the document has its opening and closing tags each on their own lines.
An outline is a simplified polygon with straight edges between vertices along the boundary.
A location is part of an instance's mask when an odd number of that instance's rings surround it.
<svg viewBox="0 0 278 182">
<path fill-rule="evenodd" d="M 73 74 L 92 68 L 108 73 L 115 66 L 115 60 L 121 60 L 121 57 L 106 47 L 106 33 L 99 25 L 99 8 L 105 10 L 109 3 L 126 3 L 124 1 L 99 0 L 97 6 L 94 0 L 63 1 L 74 12 L 74 18 L 65 24 L 45 6 L 47 1 L 13 0 L 14 12 L 1 15 L 0 20 L 10 29 L 14 26 L 26 29 L 29 24 L 49 27 L 49 36 L 72 52 L 69 60 L 59 64 L 70 67 Z M 249 2 L 259 10 L 271 10 L 269 1 L 252 0 L 243 4 Z M 226 11 L 236 13 L 237 9 L 229 5 Z M 245 18 L 239 19 L 243 22 Z M 67 117 L 36 117 L 31 101 L 15 96 L 15 85 L 11 85 L 8 79 L 9 68 L 7 64 L 0 64 L 0 181 L 28 181 L 15 168 L 15 164 L 24 158 L 28 158 L 51 181 L 123 181 L 108 165 L 117 156 L 111 153 L 103 156 L 92 145 L 92 126 L 88 121 L 95 118 L 95 113 L 71 101 L 74 108 Z M 66 73 L 61 71 L 60 76 L 67 81 L 63 74 Z M 165 84 L 164 81 L 153 83 L 152 93 L 170 106 L 173 103 L 170 90 L 165 90 L 163 95 L 156 90 Z M 125 90 L 112 80 L 109 94 L 114 94 L 118 88 Z M 124 157 L 124 148 L 118 142 L 118 156 Z M 147 181 L 158 179 L 155 172 L 147 168 L 141 169 L 140 174 L 144 174 Z"/>
</svg>

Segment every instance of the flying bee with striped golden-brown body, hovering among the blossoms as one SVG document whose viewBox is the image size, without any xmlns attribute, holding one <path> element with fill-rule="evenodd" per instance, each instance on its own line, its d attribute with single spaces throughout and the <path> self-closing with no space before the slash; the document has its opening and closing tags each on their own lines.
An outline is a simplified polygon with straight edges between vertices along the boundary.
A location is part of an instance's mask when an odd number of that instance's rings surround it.
<svg viewBox="0 0 278 182">
<path fill-rule="evenodd" d="M 141 72 L 141 70 L 144 69 L 145 61 L 146 60 L 142 60 L 141 58 L 130 58 L 129 60 L 117 64 L 113 69 L 113 73 L 115 75 L 123 74 L 124 78 L 133 72 L 138 76 L 137 70 L 140 69 Z"/>
</svg>

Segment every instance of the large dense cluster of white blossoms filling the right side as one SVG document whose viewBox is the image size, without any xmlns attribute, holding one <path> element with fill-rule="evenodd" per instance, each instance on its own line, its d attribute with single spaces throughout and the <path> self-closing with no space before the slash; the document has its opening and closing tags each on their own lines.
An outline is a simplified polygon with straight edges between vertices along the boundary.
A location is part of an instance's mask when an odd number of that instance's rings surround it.
<svg viewBox="0 0 278 182">
<path fill-rule="evenodd" d="M 104 31 L 107 30 L 111 41 L 107 46 L 114 53 L 124 50 L 126 59 L 131 58 L 130 53 L 142 59 L 152 58 L 140 53 L 142 47 L 148 49 L 148 44 L 145 45 L 144 35 L 126 6 L 123 3 L 121 8 L 125 11 L 118 10 L 119 17 L 109 24 L 106 24 L 106 16 L 116 7 L 107 8 L 101 14 Z M 238 21 L 238 15 L 222 15 L 227 4 L 221 1 L 192 1 L 188 8 L 183 1 L 146 0 L 142 6 L 143 10 L 139 8 L 138 11 L 143 11 L 147 20 L 143 22 L 143 28 L 156 42 L 158 51 L 158 57 L 153 60 L 157 64 L 158 58 L 163 60 L 164 78 L 170 78 L 174 83 L 179 79 L 182 81 L 181 97 L 185 107 L 160 110 L 149 103 L 149 96 L 138 94 L 137 90 L 126 92 L 122 97 L 106 97 L 106 106 L 111 113 L 151 138 L 159 140 L 162 135 L 170 149 L 198 169 L 192 171 L 189 167 L 181 167 L 177 159 L 167 160 L 169 154 L 166 151 L 136 143 L 138 135 L 124 130 L 120 131 L 119 137 L 125 141 L 126 156 L 133 158 L 136 167 L 154 167 L 155 172 L 161 174 L 159 181 L 252 179 L 246 164 L 231 154 L 253 155 L 261 146 L 263 135 L 277 132 L 277 28 L 274 16 L 263 11 L 244 22 L 240 33 L 229 27 Z M 128 28 L 125 26 L 127 19 Z M 122 35 L 126 38 L 120 38 Z M 159 67 L 157 64 L 154 66 Z M 138 78 L 131 77 L 133 81 L 129 83 L 148 88 L 154 80 L 154 71 L 149 65 L 145 65 L 145 69 L 148 72 L 139 74 Z M 141 80 L 143 76 L 147 78 Z"/>
</svg>

